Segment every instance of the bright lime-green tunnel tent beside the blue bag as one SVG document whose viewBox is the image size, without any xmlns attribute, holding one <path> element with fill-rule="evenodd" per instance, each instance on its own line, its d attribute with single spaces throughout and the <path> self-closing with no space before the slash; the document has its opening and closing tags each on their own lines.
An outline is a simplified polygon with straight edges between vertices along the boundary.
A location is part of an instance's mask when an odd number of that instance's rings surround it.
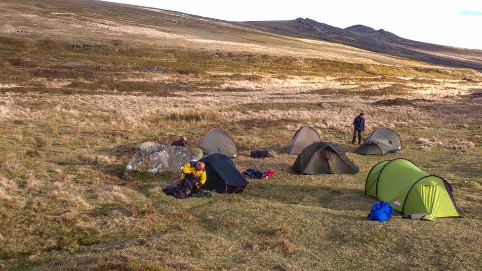
<svg viewBox="0 0 482 271">
<path fill-rule="evenodd" d="M 404 158 L 373 166 L 366 177 L 365 195 L 390 202 L 402 214 L 425 214 L 425 220 L 461 216 L 450 184 Z"/>
</svg>

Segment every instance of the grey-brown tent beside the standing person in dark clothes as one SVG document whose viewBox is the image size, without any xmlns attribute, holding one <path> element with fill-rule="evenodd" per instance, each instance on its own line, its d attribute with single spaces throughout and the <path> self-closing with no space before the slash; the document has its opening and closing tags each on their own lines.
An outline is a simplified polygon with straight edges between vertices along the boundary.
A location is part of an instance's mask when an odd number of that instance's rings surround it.
<svg viewBox="0 0 482 271">
<path fill-rule="evenodd" d="M 361 155 L 386 155 L 402 149 L 399 135 L 387 127 L 378 127 L 355 151 Z"/>
</svg>

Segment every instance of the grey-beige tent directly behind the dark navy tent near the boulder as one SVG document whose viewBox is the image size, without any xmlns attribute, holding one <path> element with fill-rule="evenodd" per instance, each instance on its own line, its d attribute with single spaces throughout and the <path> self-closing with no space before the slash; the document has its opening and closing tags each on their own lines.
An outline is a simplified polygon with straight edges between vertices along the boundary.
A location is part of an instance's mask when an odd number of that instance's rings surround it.
<svg viewBox="0 0 482 271">
<path fill-rule="evenodd" d="M 201 139 L 199 148 L 205 155 L 223 154 L 228 157 L 238 156 L 233 139 L 219 128 L 212 128 Z"/>
</svg>

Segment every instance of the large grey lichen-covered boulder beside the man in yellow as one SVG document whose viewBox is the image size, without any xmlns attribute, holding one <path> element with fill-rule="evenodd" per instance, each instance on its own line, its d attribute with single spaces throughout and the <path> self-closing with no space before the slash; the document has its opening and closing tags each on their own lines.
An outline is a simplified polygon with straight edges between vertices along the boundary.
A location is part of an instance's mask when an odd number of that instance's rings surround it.
<svg viewBox="0 0 482 271">
<path fill-rule="evenodd" d="M 170 146 L 156 142 L 144 142 L 139 146 L 125 168 L 125 175 L 132 172 L 178 171 L 189 161 L 202 157 L 200 149 Z"/>
</svg>

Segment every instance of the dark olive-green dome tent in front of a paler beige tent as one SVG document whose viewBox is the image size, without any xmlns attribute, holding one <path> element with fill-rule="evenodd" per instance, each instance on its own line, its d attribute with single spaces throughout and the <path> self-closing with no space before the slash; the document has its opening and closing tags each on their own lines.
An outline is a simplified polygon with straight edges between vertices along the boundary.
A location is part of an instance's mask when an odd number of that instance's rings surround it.
<svg viewBox="0 0 482 271">
<path fill-rule="evenodd" d="M 343 150 L 328 142 L 315 142 L 296 158 L 294 170 L 304 174 L 357 174 L 360 168 Z"/>
</svg>

